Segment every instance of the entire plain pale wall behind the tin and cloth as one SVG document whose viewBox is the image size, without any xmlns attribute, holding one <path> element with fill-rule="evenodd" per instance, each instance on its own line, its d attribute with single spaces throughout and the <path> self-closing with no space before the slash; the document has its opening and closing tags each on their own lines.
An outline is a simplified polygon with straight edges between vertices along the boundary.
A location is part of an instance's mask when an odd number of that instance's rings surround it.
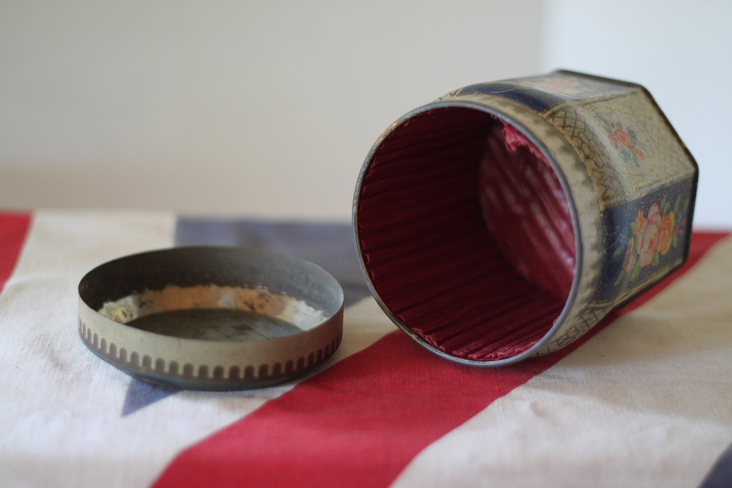
<svg viewBox="0 0 732 488">
<path fill-rule="evenodd" d="M 732 3 L 0 0 L 0 207 L 348 218 L 379 133 L 478 81 L 645 84 L 732 228 Z"/>
</svg>

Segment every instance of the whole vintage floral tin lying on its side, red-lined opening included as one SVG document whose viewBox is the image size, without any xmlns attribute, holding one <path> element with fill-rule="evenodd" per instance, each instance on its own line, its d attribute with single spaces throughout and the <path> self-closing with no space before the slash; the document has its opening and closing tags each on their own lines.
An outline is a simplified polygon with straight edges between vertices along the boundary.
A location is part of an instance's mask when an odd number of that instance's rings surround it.
<svg viewBox="0 0 732 488">
<path fill-rule="evenodd" d="M 558 71 L 397 120 L 354 196 L 374 297 L 452 361 L 558 350 L 680 267 L 698 167 L 638 84 Z"/>
</svg>

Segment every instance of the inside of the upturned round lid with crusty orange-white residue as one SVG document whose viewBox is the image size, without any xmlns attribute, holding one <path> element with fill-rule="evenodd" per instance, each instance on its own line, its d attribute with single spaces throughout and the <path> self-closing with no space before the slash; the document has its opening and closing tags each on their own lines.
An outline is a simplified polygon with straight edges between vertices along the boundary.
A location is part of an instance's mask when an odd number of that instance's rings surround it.
<svg viewBox="0 0 732 488">
<path fill-rule="evenodd" d="M 105 263 L 83 278 L 90 308 L 133 328 L 184 339 L 255 341 L 310 330 L 343 304 L 335 278 L 283 254 L 176 248 Z"/>
</svg>

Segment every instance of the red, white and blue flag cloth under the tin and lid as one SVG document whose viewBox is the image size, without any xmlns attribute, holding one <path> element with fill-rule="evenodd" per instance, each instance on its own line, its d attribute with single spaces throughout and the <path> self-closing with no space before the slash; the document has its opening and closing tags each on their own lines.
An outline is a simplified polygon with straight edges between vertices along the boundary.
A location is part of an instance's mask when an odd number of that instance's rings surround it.
<svg viewBox="0 0 732 488">
<path fill-rule="evenodd" d="M 270 248 L 346 292 L 343 343 L 305 378 L 198 392 L 83 346 L 81 277 L 171 245 Z M 732 237 L 553 355 L 458 366 L 370 297 L 348 223 L 165 212 L 0 213 L 0 473 L 7 487 L 732 485 Z"/>
</svg>

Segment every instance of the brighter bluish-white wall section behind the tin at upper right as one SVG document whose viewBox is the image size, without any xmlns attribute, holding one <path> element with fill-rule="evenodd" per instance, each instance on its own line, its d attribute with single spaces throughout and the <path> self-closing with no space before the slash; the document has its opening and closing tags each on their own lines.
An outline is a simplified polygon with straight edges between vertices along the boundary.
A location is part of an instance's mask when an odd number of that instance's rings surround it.
<svg viewBox="0 0 732 488">
<path fill-rule="evenodd" d="M 646 86 L 699 164 L 694 224 L 732 229 L 732 1 L 548 0 L 539 70 Z"/>
</svg>

